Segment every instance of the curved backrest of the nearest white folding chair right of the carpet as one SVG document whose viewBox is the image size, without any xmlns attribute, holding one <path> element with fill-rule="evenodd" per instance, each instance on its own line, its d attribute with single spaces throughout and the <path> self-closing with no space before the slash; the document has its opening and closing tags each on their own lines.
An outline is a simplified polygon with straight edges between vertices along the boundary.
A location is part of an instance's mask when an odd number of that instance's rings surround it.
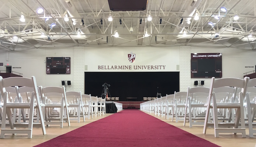
<svg viewBox="0 0 256 147">
<path fill-rule="evenodd" d="M 209 92 L 209 98 L 212 97 L 212 94 L 214 92 L 215 88 L 219 88 L 219 87 L 226 87 L 226 86 L 230 86 L 230 87 L 237 87 L 237 88 L 241 88 L 241 92 L 239 92 L 239 97 L 242 96 L 242 99 L 245 98 L 245 94 L 246 94 L 246 89 L 247 89 L 247 85 L 248 85 L 248 81 L 249 78 L 245 77 L 244 79 L 238 79 L 238 78 L 221 78 L 221 79 L 215 79 L 214 77 L 212 77 L 211 79 L 211 86 L 210 86 L 210 92 Z M 240 95 L 241 94 L 241 95 Z"/>
</svg>

